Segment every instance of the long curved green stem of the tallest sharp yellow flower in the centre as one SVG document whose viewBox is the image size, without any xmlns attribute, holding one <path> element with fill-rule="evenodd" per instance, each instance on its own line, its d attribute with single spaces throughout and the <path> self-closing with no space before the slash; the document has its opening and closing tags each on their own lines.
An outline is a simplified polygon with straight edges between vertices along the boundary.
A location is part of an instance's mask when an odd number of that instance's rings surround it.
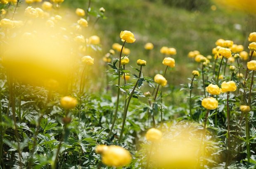
<svg viewBox="0 0 256 169">
<path fill-rule="evenodd" d="M 122 51 L 123 51 L 123 47 L 124 44 L 126 43 L 126 41 L 123 42 L 123 46 L 121 48 L 121 52 L 120 52 L 120 56 L 119 56 L 119 70 L 118 70 L 118 89 L 117 89 L 117 99 L 116 99 L 116 110 L 114 113 L 114 120 L 112 122 L 112 126 L 111 129 L 109 130 L 109 134 L 107 136 L 107 139 L 109 139 L 110 134 L 112 133 L 112 130 L 114 128 L 115 122 L 116 122 L 116 115 L 117 115 L 117 111 L 118 111 L 118 106 L 119 106 L 119 95 L 120 95 L 120 76 L 121 76 L 121 72 L 120 72 L 120 68 L 121 68 L 121 56 L 122 56 Z"/>
</svg>

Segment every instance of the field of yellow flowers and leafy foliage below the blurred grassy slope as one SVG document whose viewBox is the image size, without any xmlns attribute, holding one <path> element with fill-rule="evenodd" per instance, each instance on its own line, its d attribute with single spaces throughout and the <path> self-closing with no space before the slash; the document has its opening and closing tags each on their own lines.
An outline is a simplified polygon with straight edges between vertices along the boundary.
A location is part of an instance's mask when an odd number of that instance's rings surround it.
<svg viewBox="0 0 256 169">
<path fill-rule="evenodd" d="M 0 169 L 256 168 L 256 30 L 175 65 L 173 45 L 131 54 L 132 30 L 103 46 L 85 2 L 0 0 Z"/>
</svg>

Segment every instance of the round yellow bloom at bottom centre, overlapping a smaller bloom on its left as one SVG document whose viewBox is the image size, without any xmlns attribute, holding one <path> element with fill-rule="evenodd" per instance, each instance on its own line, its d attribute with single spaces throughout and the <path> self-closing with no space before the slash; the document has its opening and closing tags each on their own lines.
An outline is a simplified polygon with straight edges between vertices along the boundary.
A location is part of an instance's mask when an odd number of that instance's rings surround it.
<svg viewBox="0 0 256 169">
<path fill-rule="evenodd" d="M 102 153 L 102 162 L 109 167 L 123 167 L 131 160 L 130 152 L 120 146 L 108 146 Z"/>
</svg>

